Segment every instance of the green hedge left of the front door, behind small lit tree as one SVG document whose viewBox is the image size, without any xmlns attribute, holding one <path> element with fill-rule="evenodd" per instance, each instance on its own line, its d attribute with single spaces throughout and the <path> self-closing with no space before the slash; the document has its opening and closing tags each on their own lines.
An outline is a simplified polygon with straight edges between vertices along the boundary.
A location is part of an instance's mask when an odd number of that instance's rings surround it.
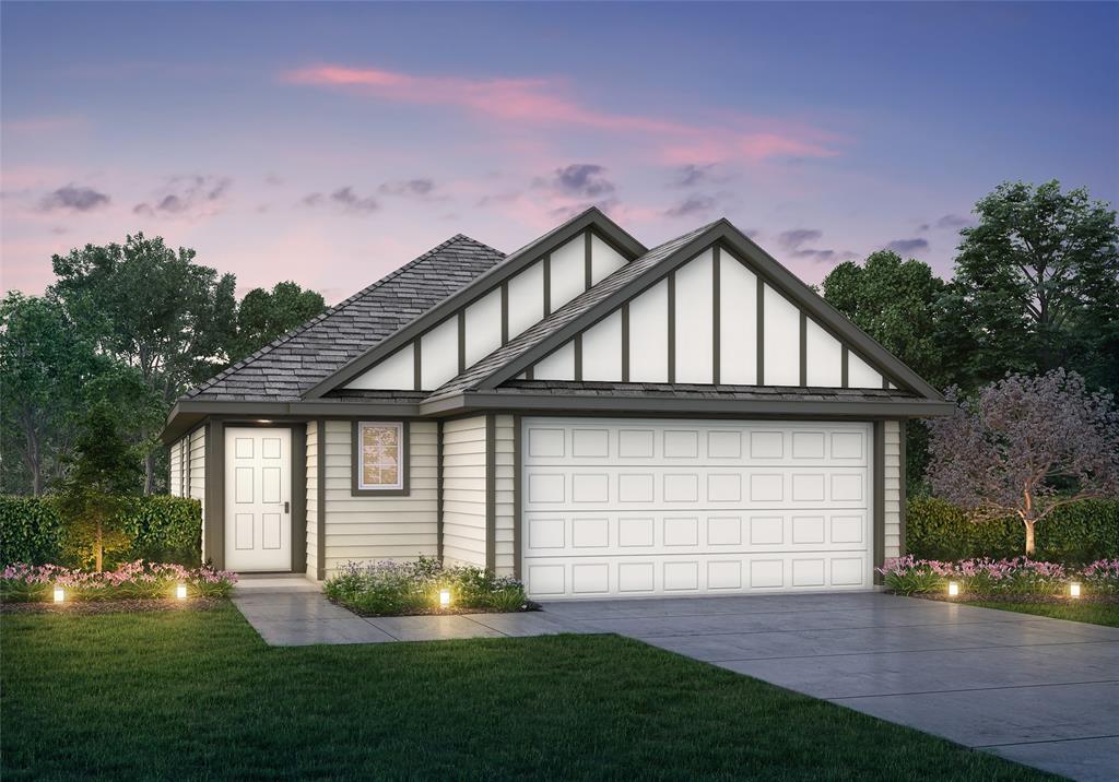
<svg viewBox="0 0 1119 782">
<path fill-rule="evenodd" d="M 147 559 L 186 567 L 201 564 L 203 509 L 197 500 L 153 494 L 129 501 L 119 526 L 131 545 L 113 563 Z M 76 564 L 67 555 L 66 525 L 54 498 L 0 494 L 0 566 Z"/>
</svg>

